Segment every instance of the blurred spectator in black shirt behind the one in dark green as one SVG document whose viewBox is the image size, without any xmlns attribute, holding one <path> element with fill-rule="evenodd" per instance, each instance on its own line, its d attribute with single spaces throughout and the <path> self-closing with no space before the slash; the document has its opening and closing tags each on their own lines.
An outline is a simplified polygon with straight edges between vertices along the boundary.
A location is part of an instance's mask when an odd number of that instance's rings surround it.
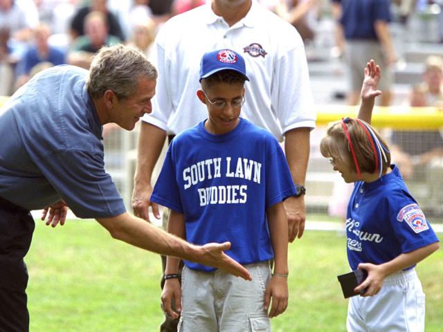
<svg viewBox="0 0 443 332">
<path fill-rule="evenodd" d="M 87 33 L 85 28 L 86 17 L 90 12 L 102 12 L 106 17 L 107 33 L 125 40 L 122 28 L 116 16 L 107 8 L 107 0 L 92 0 L 91 6 L 82 7 L 75 13 L 71 21 L 71 37 L 76 39 Z"/>
</svg>

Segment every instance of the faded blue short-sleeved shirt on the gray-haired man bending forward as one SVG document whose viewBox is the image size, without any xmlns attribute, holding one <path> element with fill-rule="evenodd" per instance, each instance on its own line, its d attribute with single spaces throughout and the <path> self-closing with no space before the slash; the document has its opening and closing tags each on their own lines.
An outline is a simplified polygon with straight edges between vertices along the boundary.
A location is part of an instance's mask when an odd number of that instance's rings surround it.
<svg viewBox="0 0 443 332">
<path fill-rule="evenodd" d="M 117 216 L 123 199 L 105 172 L 102 126 L 88 72 L 55 66 L 22 86 L 0 116 L 0 196 L 28 210 L 64 199 L 81 218 Z"/>
</svg>

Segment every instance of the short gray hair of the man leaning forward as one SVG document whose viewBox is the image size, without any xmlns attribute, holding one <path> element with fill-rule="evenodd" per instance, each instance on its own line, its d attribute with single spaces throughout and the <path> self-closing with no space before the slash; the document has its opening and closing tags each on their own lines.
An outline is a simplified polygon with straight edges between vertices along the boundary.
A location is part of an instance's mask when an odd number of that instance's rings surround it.
<svg viewBox="0 0 443 332">
<path fill-rule="evenodd" d="M 138 48 L 119 44 L 102 47 L 89 68 L 87 89 L 92 98 L 112 90 L 119 99 L 136 93 L 138 79 L 156 80 L 157 71 Z"/>
</svg>

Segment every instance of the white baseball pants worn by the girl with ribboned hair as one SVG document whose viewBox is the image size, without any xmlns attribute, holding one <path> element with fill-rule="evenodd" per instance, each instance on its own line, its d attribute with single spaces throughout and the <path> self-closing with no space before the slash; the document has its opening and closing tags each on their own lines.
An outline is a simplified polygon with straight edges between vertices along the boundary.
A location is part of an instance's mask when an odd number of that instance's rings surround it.
<svg viewBox="0 0 443 332">
<path fill-rule="evenodd" d="M 377 295 L 350 298 L 347 331 L 422 332 L 424 297 L 414 269 L 390 275 Z"/>
</svg>

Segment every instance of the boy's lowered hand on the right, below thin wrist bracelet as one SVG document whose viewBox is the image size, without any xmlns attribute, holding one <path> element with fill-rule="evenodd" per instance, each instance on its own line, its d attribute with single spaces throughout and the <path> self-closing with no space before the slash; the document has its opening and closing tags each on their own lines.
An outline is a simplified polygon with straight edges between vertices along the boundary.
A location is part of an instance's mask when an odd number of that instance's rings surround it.
<svg viewBox="0 0 443 332">
<path fill-rule="evenodd" d="M 268 314 L 269 318 L 284 313 L 288 306 L 288 297 L 287 277 L 273 276 L 266 285 L 266 292 L 264 293 L 264 310 L 268 311 L 272 298 L 271 310 L 269 310 Z"/>
</svg>

